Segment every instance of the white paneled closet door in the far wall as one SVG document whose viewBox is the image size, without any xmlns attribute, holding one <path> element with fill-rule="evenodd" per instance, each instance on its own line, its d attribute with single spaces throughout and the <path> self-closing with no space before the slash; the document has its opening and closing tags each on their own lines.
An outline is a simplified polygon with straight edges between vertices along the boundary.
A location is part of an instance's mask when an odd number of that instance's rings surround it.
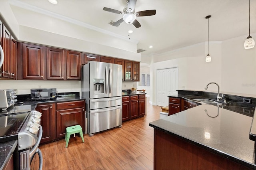
<svg viewBox="0 0 256 170">
<path fill-rule="evenodd" d="M 178 67 L 156 70 L 157 105 L 168 106 L 168 95 L 178 94 Z"/>
</svg>

